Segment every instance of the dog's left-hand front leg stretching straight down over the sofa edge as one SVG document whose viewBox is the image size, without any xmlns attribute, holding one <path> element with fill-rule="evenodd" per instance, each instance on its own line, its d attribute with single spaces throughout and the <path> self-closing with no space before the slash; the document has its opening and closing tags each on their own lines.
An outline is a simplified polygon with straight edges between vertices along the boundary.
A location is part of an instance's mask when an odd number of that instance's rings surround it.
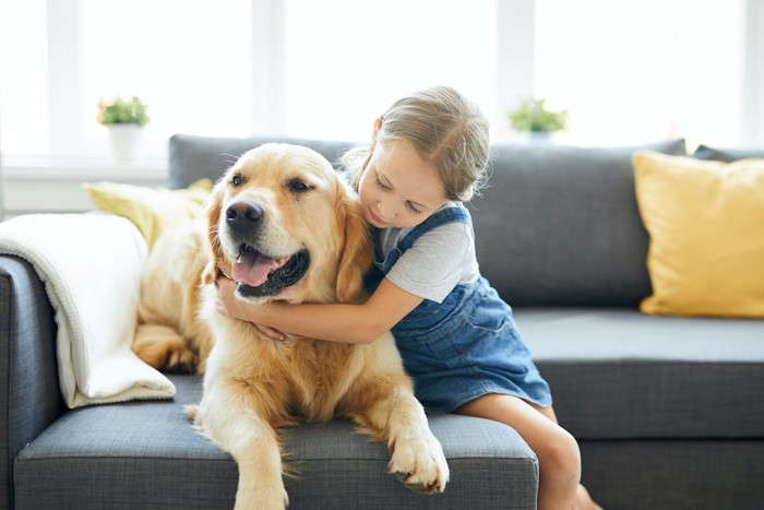
<svg viewBox="0 0 764 510">
<path fill-rule="evenodd" d="M 205 393 L 192 414 L 198 427 L 239 465 L 235 510 L 284 510 L 289 499 L 282 477 L 276 430 L 240 392 L 214 393 Z M 215 404 L 207 405 L 208 402 Z"/>
</svg>

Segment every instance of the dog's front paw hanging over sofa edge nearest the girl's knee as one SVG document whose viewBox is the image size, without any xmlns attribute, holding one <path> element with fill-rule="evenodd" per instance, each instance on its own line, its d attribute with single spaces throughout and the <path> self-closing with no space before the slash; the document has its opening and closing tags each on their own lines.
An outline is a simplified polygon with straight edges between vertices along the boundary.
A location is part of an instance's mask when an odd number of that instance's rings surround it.
<svg viewBox="0 0 764 510">
<path fill-rule="evenodd" d="M 442 493 L 449 482 L 449 464 L 434 436 L 398 439 L 392 447 L 390 472 L 406 487 L 422 494 Z"/>
</svg>

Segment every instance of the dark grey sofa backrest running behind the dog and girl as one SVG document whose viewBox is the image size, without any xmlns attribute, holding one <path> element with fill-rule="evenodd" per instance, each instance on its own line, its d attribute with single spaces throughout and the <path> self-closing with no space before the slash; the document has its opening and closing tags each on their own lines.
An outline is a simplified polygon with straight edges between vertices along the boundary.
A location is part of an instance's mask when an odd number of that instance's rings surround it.
<svg viewBox="0 0 764 510">
<path fill-rule="evenodd" d="M 169 142 L 169 187 L 217 179 L 265 142 L 307 145 L 336 164 L 355 144 L 286 138 Z M 631 156 L 650 149 L 683 155 L 683 140 L 632 147 L 553 144 L 491 147 L 491 176 L 468 205 L 482 274 L 512 306 L 635 307 L 650 293 L 647 233 Z"/>
</svg>

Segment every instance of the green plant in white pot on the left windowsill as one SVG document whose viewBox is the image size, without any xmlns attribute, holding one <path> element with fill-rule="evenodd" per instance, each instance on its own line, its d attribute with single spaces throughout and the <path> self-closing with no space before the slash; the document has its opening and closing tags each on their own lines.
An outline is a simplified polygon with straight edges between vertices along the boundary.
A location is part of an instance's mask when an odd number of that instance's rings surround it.
<svg viewBox="0 0 764 510">
<path fill-rule="evenodd" d="M 98 100 L 98 122 L 109 130 L 111 152 L 117 161 L 138 158 L 143 127 L 151 120 L 146 105 L 136 96 L 122 99 L 117 96 L 107 102 Z"/>
</svg>

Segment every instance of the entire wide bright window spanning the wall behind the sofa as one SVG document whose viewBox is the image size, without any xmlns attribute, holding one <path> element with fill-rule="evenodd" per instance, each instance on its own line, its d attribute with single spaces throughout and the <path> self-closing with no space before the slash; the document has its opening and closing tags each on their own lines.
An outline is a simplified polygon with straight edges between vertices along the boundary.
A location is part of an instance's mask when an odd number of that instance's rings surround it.
<svg viewBox="0 0 764 510">
<path fill-rule="evenodd" d="M 570 111 L 560 143 L 750 144 L 743 117 L 764 114 L 755 5 L 0 0 L 0 147 L 105 157 L 96 105 L 116 94 L 148 104 L 148 156 L 175 132 L 362 141 L 393 100 L 443 83 L 480 104 L 497 138 L 512 134 L 510 103 L 535 95 Z"/>
</svg>

